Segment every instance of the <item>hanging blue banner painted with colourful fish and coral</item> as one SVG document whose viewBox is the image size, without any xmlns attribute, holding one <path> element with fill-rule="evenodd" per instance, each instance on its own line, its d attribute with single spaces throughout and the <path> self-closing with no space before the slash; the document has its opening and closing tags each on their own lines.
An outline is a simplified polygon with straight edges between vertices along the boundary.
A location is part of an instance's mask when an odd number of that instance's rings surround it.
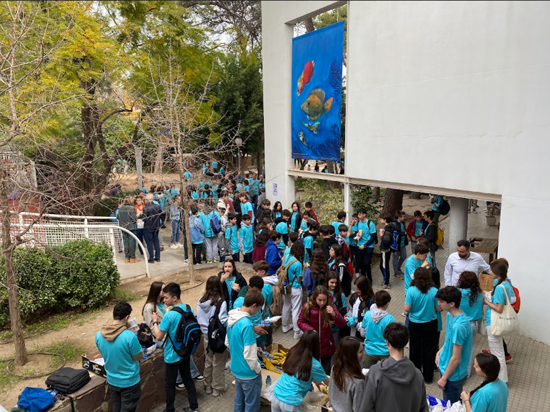
<svg viewBox="0 0 550 412">
<path fill-rule="evenodd" d="M 340 160 L 344 22 L 292 39 L 292 157 Z"/>
</svg>

